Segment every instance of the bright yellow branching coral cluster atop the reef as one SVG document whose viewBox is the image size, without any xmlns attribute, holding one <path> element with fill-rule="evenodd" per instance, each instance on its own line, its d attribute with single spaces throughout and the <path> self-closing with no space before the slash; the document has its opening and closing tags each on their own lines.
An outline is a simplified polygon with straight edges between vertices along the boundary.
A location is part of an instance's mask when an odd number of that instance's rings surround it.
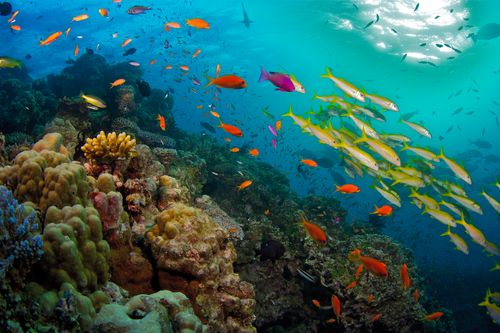
<svg viewBox="0 0 500 333">
<path fill-rule="evenodd" d="M 126 159 L 135 155 L 135 139 L 126 133 L 116 134 L 101 131 L 97 137 L 87 139 L 82 151 L 91 162 L 111 162 L 116 159 Z"/>
</svg>

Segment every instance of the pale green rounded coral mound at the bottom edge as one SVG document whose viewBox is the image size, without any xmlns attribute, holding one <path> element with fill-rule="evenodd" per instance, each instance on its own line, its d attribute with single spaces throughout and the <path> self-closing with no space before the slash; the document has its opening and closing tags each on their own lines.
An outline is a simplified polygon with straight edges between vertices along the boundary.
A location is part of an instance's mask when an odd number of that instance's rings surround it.
<svg viewBox="0 0 500 333">
<path fill-rule="evenodd" d="M 134 296 L 124 305 L 105 305 L 94 321 L 92 332 L 205 333 L 208 330 L 194 315 L 186 296 L 162 290 Z"/>
</svg>

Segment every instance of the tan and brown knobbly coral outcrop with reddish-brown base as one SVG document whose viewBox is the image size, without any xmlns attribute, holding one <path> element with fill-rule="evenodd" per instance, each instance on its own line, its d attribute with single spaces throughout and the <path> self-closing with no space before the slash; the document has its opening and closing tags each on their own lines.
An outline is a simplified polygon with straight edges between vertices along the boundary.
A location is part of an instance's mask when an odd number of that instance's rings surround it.
<svg viewBox="0 0 500 333">
<path fill-rule="evenodd" d="M 253 287 L 233 273 L 234 247 L 208 215 L 174 203 L 156 217 L 146 236 L 160 287 L 190 297 L 213 332 L 255 332 Z"/>
</svg>

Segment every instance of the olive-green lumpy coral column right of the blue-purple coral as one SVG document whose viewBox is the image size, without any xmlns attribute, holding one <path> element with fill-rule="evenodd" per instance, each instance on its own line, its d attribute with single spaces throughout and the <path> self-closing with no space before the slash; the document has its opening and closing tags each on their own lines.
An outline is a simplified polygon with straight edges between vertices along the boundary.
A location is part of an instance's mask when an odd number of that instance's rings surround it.
<svg viewBox="0 0 500 333">
<path fill-rule="evenodd" d="M 109 278 L 109 245 L 102 238 L 99 213 L 81 205 L 49 207 L 43 232 L 41 269 L 45 283 L 59 288 L 65 282 L 91 293 Z"/>
</svg>

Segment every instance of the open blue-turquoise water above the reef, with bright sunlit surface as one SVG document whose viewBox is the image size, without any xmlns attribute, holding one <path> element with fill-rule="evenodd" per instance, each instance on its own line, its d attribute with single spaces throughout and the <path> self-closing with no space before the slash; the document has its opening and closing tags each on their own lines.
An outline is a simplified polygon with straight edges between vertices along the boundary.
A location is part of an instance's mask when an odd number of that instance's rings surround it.
<svg viewBox="0 0 500 333">
<path fill-rule="evenodd" d="M 317 110 L 321 103 L 312 99 L 314 92 L 341 95 L 330 80 L 320 78 L 326 66 L 357 87 L 391 98 L 398 104 L 400 113 L 416 111 L 412 121 L 424 124 L 433 139 L 419 138 L 398 122 L 400 114 L 389 111 L 385 112 L 386 123 L 372 122 L 375 129 L 408 135 L 415 145 L 436 152 L 444 147 L 446 154 L 452 157 L 476 149 L 470 141 L 482 139 L 492 145 L 490 149 L 479 149 L 483 156 L 500 157 L 500 38 L 477 43 L 467 38 L 486 23 L 500 23 L 500 1 L 421 0 L 419 9 L 414 11 L 416 3 L 409 0 L 252 0 L 245 2 L 245 8 L 254 23 L 246 28 L 239 22 L 242 20 L 240 1 L 146 1 L 140 4 L 153 9 L 137 16 L 126 13 L 136 1 L 123 0 L 121 7 L 111 0 L 13 1 L 15 9 L 20 11 L 15 23 L 22 30 L 11 33 L 6 18 L 1 18 L 0 54 L 19 59 L 30 54 L 32 59 L 25 64 L 33 78 L 59 73 L 66 66 L 64 62 L 74 58 L 76 44 L 80 52 L 91 48 L 110 63 L 140 62 L 145 80 L 154 87 L 172 91 L 177 126 L 193 133 L 205 131 L 200 121 L 215 127 L 217 121 L 207 112 L 208 105 L 214 104 L 224 122 L 236 124 L 245 133 L 243 138 L 233 139 L 228 147 L 243 143 L 257 147 L 258 158 L 284 171 L 295 191 L 301 195 L 313 193 L 340 198 L 349 210 L 348 220 L 352 221 L 367 219 L 374 205 L 385 203 L 369 187 L 373 179 L 369 176 L 350 179 L 338 165 L 338 154 L 332 148 L 319 144 L 314 137 L 302 133 L 289 118 L 281 117 L 290 105 L 294 112 L 305 117 L 309 116 L 306 112 L 311 107 Z M 110 16 L 101 17 L 98 8 L 107 8 Z M 88 13 L 90 18 L 70 22 L 82 13 Z M 379 21 L 363 29 L 377 14 Z M 183 24 L 189 17 L 202 17 L 210 22 L 211 29 L 195 30 L 185 26 L 170 32 L 163 29 L 166 21 Z M 468 24 L 471 27 L 458 30 Z M 68 38 L 62 36 L 50 46 L 38 46 L 40 38 L 54 31 L 64 32 L 68 27 L 71 27 Z M 126 38 L 133 41 L 121 48 Z M 168 49 L 164 47 L 165 40 L 169 41 Z M 419 46 L 422 43 L 427 45 Z M 435 43 L 450 44 L 461 53 L 447 47 L 438 48 Z M 129 47 L 137 48 L 137 52 L 123 57 L 122 53 Z M 198 48 L 201 53 L 193 59 L 191 54 Z M 407 57 L 402 61 L 404 54 Z M 156 63 L 149 65 L 153 59 Z M 437 67 L 418 61 L 431 61 Z M 248 88 L 222 90 L 219 101 L 214 101 L 213 93 L 206 94 L 202 86 L 193 84 L 192 79 L 201 81 L 202 85 L 206 83 L 206 76 L 215 75 L 217 64 L 221 65 L 221 73 L 244 78 Z M 166 65 L 174 68 L 166 70 Z M 188 65 L 189 73 L 184 75 L 179 65 Z M 307 93 L 283 93 L 274 90 L 269 82 L 257 83 L 260 66 L 269 71 L 293 73 Z M 198 105 L 203 108 L 198 109 Z M 266 107 L 275 119 L 261 112 Z M 463 111 L 453 115 L 460 107 Z M 474 112 L 467 115 L 471 111 Z M 274 149 L 273 136 L 267 126 L 278 119 L 283 121 L 283 128 Z M 336 125 L 338 120 L 334 120 Z M 453 129 L 447 133 L 450 126 Z M 216 136 L 224 143 L 227 135 L 218 130 Z M 336 194 L 335 181 L 327 169 L 298 173 L 299 160 L 308 154 L 304 149 L 316 157 L 331 158 L 335 162 L 334 170 L 347 182 L 360 186 L 361 192 L 349 198 Z M 473 179 L 472 186 L 462 184 L 484 211 L 483 215 L 472 213 L 474 224 L 488 240 L 500 244 L 500 219 L 479 195 L 486 189 L 500 199 L 500 190 L 494 186 L 495 180 L 500 179 L 500 164 L 481 158 L 460 162 Z M 453 178 L 449 171 L 448 177 Z M 477 303 L 488 287 L 500 287 L 500 273 L 489 272 L 498 258 L 487 257 L 464 233 L 461 235 L 469 244 L 470 254 L 455 251 L 448 238 L 439 236 L 445 231 L 442 224 L 421 215 L 408 199 L 403 201 L 403 208 L 395 210 L 384 231 L 414 251 L 431 290 L 442 305 L 454 311 L 459 329 L 463 332 L 474 329 L 463 320 L 467 317 L 474 318 L 474 325 L 482 323 L 483 330 L 477 327 L 477 332 L 492 329 L 484 308 Z"/>
</svg>

